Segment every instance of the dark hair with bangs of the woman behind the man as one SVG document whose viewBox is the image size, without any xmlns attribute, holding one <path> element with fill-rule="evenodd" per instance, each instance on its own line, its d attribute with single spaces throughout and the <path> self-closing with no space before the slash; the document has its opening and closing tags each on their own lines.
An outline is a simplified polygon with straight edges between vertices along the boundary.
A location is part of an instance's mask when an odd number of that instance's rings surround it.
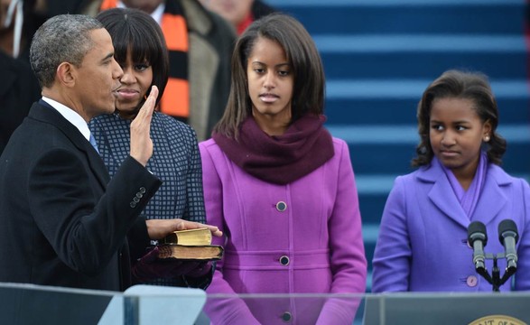
<svg viewBox="0 0 530 325">
<path fill-rule="evenodd" d="M 167 84 L 169 54 L 162 29 L 151 17 L 138 9 L 113 8 L 96 16 L 107 29 L 114 45 L 114 57 L 123 65 L 127 52 L 131 51 L 134 62 L 147 61 L 153 69 L 153 83 L 159 89 L 156 102 L 160 101 Z M 151 88 L 149 88 L 151 91 Z M 140 103 L 140 106 L 144 101 Z"/>
</svg>

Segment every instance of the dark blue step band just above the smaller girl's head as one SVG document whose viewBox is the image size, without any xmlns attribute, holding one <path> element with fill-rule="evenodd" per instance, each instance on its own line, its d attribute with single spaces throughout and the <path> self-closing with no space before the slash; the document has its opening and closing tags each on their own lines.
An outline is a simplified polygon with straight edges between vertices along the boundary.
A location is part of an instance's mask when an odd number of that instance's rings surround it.
<svg viewBox="0 0 530 325">
<path fill-rule="evenodd" d="M 521 38 L 522 41 L 522 38 Z M 478 70 L 490 79 L 525 79 L 527 53 L 514 51 L 321 51 L 327 79 L 435 79 L 445 70 Z M 345 69 L 347 67 L 347 69 Z"/>
</svg>

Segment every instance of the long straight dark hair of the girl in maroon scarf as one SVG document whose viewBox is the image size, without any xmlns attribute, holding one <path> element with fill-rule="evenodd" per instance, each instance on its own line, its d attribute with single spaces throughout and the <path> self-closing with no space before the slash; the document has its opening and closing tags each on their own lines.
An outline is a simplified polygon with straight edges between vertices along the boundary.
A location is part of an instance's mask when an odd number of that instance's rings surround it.
<svg viewBox="0 0 530 325">
<path fill-rule="evenodd" d="M 232 54 L 232 79 L 225 113 L 215 126 L 219 134 L 236 137 L 239 125 L 252 114 L 246 64 L 259 38 L 277 42 L 293 71 L 292 121 L 324 110 L 325 77 L 321 56 L 302 23 L 287 14 L 269 14 L 252 23 L 238 38 Z"/>
</svg>

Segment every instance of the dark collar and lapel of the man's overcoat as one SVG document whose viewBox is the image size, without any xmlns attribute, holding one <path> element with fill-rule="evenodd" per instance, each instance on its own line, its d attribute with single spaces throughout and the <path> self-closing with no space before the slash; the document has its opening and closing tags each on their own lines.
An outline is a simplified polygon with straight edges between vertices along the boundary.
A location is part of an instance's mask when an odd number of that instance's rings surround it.
<svg viewBox="0 0 530 325">
<path fill-rule="evenodd" d="M 66 135 L 80 152 L 85 153 L 88 165 L 101 184 L 101 187 L 103 189 L 107 188 L 107 183 L 110 180 L 107 167 L 105 167 L 105 163 L 103 163 L 98 152 L 96 152 L 88 140 L 81 135 L 77 127 L 72 125 L 66 118 L 61 116 L 57 110 L 42 99 L 39 103 L 33 104 L 30 116 L 44 123 L 55 125 L 60 132 Z"/>
</svg>

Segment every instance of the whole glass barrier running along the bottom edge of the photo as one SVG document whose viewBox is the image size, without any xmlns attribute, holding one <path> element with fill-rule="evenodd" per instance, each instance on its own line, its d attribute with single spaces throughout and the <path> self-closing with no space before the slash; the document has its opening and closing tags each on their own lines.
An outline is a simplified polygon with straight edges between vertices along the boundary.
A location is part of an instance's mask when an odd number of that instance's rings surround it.
<svg viewBox="0 0 530 325">
<path fill-rule="evenodd" d="M 214 315 L 265 325 L 530 324 L 530 292 L 207 296 L 150 285 L 102 292 L 0 283 L 0 301 L 1 324 L 207 325 Z"/>
</svg>

